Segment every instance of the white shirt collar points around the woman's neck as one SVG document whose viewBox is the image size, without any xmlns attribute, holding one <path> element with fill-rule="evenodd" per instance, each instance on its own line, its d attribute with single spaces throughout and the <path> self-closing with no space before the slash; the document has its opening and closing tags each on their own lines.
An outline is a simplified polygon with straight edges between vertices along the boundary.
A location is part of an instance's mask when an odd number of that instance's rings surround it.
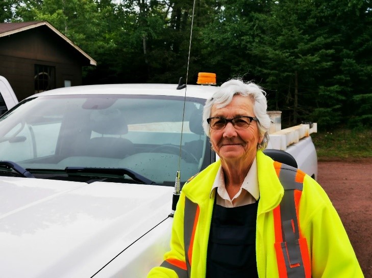
<svg viewBox="0 0 372 278">
<path fill-rule="evenodd" d="M 209 194 L 209 198 L 212 196 L 212 192 L 217 187 L 225 187 L 225 179 L 224 179 L 224 172 L 222 171 L 222 166 L 219 166 L 219 169 L 216 174 L 216 178 L 214 179 L 211 192 Z M 241 185 L 243 189 L 250 192 L 253 198 L 256 201 L 260 198 L 260 188 L 258 185 L 258 175 L 257 175 L 257 160 L 256 158 L 253 160 L 250 170 L 248 171 L 247 175 L 244 178 L 244 181 Z"/>
</svg>

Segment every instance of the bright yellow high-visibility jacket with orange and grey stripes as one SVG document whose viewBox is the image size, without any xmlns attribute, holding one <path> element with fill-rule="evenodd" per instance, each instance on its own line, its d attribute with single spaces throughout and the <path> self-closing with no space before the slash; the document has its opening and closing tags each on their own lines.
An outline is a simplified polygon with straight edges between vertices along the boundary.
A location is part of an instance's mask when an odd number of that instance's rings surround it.
<svg viewBox="0 0 372 278">
<path fill-rule="evenodd" d="M 196 175 L 182 189 L 175 212 L 170 251 L 162 266 L 153 268 L 147 278 L 188 277 L 206 275 L 207 246 L 215 191 L 210 196 L 220 162 Z M 257 152 L 260 202 L 257 212 L 256 260 L 259 277 L 279 277 L 273 210 L 283 197 L 284 189 L 274 168 L 274 161 Z M 191 223 L 190 246 L 184 243 L 185 203 L 195 204 Z M 186 213 L 187 210 L 186 210 Z M 187 216 L 187 215 L 186 215 Z M 187 220 L 190 222 L 190 220 Z M 191 222 L 192 222 L 191 221 Z M 187 224 L 187 225 L 190 225 Z M 299 226 L 307 239 L 312 277 L 364 277 L 348 235 L 326 192 L 308 175 L 303 182 Z M 186 229 L 186 228 L 185 228 Z M 187 270 L 186 270 L 187 269 Z"/>
</svg>

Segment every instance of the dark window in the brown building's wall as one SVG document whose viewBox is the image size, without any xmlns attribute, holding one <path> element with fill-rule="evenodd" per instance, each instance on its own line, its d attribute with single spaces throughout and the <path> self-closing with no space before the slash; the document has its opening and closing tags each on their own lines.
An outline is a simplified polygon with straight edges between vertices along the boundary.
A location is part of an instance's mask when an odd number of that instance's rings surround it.
<svg viewBox="0 0 372 278">
<path fill-rule="evenodd" d="M 35 93 L 56 88 L 56 68 L 44 65 L 35 65 Z"/>
</svg>

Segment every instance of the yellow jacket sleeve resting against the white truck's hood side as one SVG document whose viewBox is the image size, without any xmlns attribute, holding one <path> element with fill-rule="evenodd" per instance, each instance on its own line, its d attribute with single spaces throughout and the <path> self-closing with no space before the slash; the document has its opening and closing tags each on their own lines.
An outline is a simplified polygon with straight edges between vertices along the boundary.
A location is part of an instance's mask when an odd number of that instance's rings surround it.
<svg viewBox="0 0 372 278">
<path fill-rule="evenodd" d="M 181 192 L 175 215 L 173 217 L 170 251 L 165 253 L 164 261 L 154 267 L 147 278 L 184 278 L 188 277 L 184 247 L 184 208 L 185 195 Z"/>
</svg>

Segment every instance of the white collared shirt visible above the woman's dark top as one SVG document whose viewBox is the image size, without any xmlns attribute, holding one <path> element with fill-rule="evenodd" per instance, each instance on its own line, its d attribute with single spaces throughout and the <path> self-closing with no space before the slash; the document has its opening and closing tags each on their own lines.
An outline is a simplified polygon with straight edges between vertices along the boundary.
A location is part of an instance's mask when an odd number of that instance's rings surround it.
<svg viewBox="0 0 372 278">
<path fill-rule="evenodd" d="M 230 196 L 226 190 L 224 171 L 222 171 L 221 166 L 219 166 L 216 178 L 214 179 L 210 195 L 212 195 L 212 191 L 215 188 L 217 188 L 216 203 L 222 207 L 232 208 L 255 203 L 260 198 L 256 158 L 253 160 L 252 166 L 245 176 L 240 190 L 232 199 L 230 199 Z"/>
</svg>

